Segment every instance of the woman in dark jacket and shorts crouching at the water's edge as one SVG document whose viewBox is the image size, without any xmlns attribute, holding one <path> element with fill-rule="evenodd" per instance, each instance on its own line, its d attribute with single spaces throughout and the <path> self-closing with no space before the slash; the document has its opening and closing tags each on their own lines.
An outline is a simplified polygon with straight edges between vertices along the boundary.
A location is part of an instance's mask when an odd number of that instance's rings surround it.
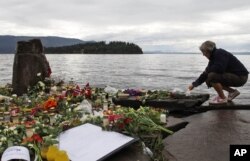
<svg viewBox="0 0 250 161">
<path fill-rule="evenodd" d="M 200 50 L 209 60 L 205 71 L 189 85 L 188 89 L 206 82 L 208 87 L 213 87 L 218 96 L 214 97 L 210 104 L 225 104 L 237 97 L 240 92 L 232 87 L 243 86 L 248 79 L 249 72 L 246 67 L 231 53 L 223 49 L 217 49 L 212 41 L 201 44 Z M 223 90 L 228 92 L 226 97 Z"/>
</svg>

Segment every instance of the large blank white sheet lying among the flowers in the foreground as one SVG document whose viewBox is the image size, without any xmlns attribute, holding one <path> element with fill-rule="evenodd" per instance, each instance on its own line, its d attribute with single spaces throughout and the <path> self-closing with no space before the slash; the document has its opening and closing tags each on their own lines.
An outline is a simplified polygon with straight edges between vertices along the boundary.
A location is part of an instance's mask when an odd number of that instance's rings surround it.
<svg viewBox="0 0 250 161">
<path fill-rule="evenodd" d="M 96 161 L 133 141 L 134 138 L 101 127 L 84 124 L 59 137 L 59 148 L 66 150 L 72 161 Z"/>
</svg>

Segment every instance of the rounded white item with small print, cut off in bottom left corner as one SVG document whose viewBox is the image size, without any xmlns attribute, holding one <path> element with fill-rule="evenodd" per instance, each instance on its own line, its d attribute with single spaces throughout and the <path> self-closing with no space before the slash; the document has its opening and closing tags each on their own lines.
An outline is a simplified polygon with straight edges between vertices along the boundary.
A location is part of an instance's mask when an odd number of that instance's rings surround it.
<svg viewBox="0 0 250 161">
<path fill-rule="evenodd" d="M 11 159 L 23 159 L 26 161 L 30 161 L 29 150 L 23 146 L 9 147 L 3 152 L 1 161 L 8 161 Z"/>
</svg>

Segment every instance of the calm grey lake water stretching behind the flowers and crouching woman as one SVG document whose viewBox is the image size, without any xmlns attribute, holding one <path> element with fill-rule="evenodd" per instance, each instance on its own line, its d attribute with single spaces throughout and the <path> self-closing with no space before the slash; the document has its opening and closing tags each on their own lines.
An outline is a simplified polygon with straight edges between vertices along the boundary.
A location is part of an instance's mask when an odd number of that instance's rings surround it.
<svg viewBox="0 0 250 161">
<path fill-rule="evenodd" d="M 236 55 L 250 71 L 250 55 Z M 118 89 L 178 89 L 185 91 L 207 65 L 201 54 L 143 54 L 143 55 L 46 55 L 52 77 L 73 80 L 79 85 L 110 85 Z M 13 54 L 0 54 L 0 85 L 11 83 Z M 238 88 L 236 101 L 250 103 L 250 83 Z M 203 84 L 193 92 L 215 94 Z"/>
</svg>

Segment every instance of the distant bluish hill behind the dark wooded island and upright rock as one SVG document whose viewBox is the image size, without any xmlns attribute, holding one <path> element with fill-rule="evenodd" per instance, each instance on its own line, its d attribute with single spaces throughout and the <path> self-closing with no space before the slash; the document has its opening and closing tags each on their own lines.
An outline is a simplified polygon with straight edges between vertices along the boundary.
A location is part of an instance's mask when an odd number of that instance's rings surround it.
<svg viewBox="0 0 250 161">
<path fill-rule="evenodd" d="M 0 35 L 0 54 L 15 53 L 16 44 L 18 41 L 27 41 L 33 38 L 39 38 L 42 41 L 44 47 L 60 47 L 60 46 L 84 44 L 90 42 L 90 41 L 83 41 L 80 39 L 64 38 L 56 36 L 43 37 L 43 36 Z"/>
</svg>

